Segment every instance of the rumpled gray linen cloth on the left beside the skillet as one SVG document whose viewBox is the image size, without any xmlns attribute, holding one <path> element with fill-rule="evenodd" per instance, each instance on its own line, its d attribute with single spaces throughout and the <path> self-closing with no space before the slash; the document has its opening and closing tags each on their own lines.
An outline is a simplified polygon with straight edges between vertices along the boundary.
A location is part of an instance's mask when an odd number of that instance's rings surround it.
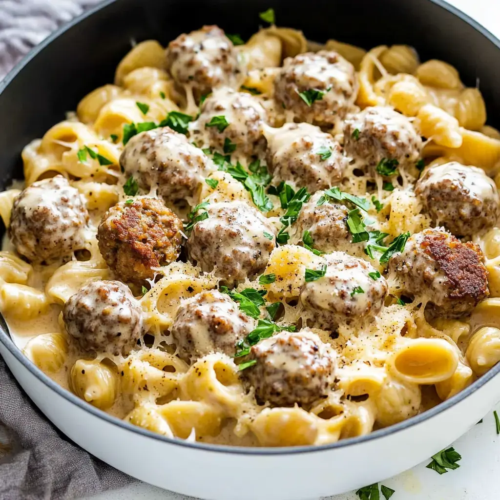
<svg viewBox="0 0 500 500">
<path fill-rule="evenodd" d="M 0 0 L 0 79 L 63 22 L 99 0 Z M 0 500 L 62 500 L 133 481 L 62 435 L 0 357 Z"/>
</svg>

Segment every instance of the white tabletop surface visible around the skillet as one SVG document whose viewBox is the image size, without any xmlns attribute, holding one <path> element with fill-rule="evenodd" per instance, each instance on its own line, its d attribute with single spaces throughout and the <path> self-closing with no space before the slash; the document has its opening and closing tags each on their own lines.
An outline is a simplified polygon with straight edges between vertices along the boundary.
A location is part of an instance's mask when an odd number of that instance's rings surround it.
<svg viewBox="0 0 500 500">
<path fill-rule="evenodd" d="M 404 1 L 404 0 L 401 0 Z M 500 37 L 500 0 L 448 0 Z M 500 90 L 499 90 L 500 91 Z M 500 399 L 500 394 L 498 395 Z M 382 481 L 395 490 L 391 500 L 493 500 L 500 495 L 500 436 L 496 435 L 493 409 L 453 443 L 462 455 L 460 467 L 439 475 L 416 467 Z M 500 413 L 500 404 L 496 406 Z M 411 450 L 408 450 L 411 453 Z M 94 500 L 185 500 L 187 497 L 137 482 L 108 491 Z M 354 492 L 322 500 L 354 500 Z M 381 498 L 383 498 L 381 496 Z M 82 499 L 89 500 L 89 499 Z"/>
</svg>

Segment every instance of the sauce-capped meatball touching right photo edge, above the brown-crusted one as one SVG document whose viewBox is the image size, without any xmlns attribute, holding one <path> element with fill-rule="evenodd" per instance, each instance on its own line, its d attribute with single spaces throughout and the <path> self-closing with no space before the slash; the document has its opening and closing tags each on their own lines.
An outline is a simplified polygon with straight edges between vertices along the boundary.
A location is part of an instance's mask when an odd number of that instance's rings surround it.
<svg viewBox="0 0 500 500">
<path fill-rule="evenodd" d="M 475 166 L 456 161 L 431 166 L 416 183 L 415 193 L 433 222 L 456 235 L 489 229 L 500 216 L 495 183 Z"/>
</svg>

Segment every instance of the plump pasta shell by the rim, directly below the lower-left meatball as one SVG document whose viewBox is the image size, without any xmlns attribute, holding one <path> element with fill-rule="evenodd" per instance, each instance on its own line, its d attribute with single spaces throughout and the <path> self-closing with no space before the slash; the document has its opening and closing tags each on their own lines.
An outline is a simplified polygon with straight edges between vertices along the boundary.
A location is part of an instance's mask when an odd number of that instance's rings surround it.
<svg viewBox="0 0 500 500">
<path fill-rule="evenodd" d="M 116 371 L 97 359 L 78 359 L 68 381 L 73 394 L 100 409 L 110 408 L 118 395 Z"/>
</svg>

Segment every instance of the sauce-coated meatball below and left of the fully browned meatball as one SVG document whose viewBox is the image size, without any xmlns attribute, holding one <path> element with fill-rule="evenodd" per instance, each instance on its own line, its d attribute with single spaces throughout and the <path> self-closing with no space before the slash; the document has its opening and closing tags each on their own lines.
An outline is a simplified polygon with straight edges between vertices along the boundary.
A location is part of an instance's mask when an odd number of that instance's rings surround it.
<svg viewBox="0 0 500 500">
<path fill-rule="evenodd" d="M 62 308 L 67 332 L 86 351 L 127 355 L 144 334 L 139 302 L 120 281 L 93 281 Z"/>
</svg>

